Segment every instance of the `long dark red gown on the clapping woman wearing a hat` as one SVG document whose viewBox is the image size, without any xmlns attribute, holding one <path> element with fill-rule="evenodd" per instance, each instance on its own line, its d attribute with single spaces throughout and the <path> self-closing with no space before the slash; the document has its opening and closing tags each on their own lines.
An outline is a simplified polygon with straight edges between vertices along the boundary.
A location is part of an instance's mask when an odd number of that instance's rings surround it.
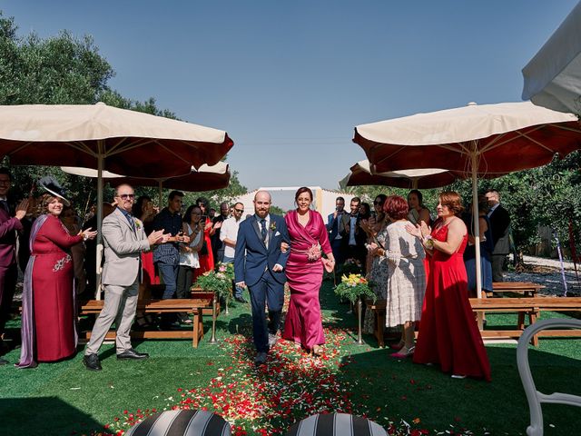
<svg viewBox="0 0 581 436">
<path fill-rule="evenodd" d="M 54 362 L 74 354 L 73 262 L 67 250 L 81 243 L 49 215 L 33 243 L 34 331 L 36 361 Z"/>
</svg>

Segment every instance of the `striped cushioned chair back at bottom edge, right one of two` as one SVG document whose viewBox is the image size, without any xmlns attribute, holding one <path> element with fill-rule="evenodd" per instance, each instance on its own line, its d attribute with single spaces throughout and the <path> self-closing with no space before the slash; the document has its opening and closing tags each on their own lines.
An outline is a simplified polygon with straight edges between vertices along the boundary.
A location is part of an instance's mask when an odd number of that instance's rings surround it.
<svg viewBox="0 0 581 436">
<path fill-rule="evenodd" d="M 312 415 L 295 422 L 286 436 L 387 436 L 379 424 L 348 413 Z"/>
</svg>

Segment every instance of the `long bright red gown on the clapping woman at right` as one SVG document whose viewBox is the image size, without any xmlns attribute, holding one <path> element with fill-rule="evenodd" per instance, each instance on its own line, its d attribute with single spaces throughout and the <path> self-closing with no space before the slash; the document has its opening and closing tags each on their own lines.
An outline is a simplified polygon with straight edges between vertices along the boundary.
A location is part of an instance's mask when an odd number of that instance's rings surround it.
<svg viewBox="0 0 581 436">
<path fill-rule="evenodd" d="M 432 237 L 445 242 L 448 226 Z M 490 364 L 478 324 L 468 302 L 468 279 L 463 253 L 468 235 L 453 254 L 434 250 L 421 313 L 416 363 L 438 363 L 442 372 L 490 381 Z"/>
</svg>

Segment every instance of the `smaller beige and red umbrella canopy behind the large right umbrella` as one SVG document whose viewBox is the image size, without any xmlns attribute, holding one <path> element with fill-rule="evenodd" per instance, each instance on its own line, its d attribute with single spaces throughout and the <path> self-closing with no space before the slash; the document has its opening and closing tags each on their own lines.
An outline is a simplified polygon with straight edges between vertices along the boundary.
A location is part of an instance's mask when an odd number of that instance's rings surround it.
<svg viewBox="0 0 581 436">
<path fill-rule="evenodd" d="M 441 168 L 426 168 L 420 170 L 388 171 L 373 173 L 369 161 L 359 161 L 350 168 L 350 173 L 340 181 L 341 186 L 384 185 L 397 188 L 429 189 L 446 186 L 462 177 Z"/>
</svg>

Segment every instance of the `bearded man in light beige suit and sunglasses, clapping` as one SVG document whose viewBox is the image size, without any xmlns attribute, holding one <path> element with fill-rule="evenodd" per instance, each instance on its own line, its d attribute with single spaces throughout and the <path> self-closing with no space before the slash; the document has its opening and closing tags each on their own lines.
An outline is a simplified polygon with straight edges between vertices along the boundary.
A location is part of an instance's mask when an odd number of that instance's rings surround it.
<svg viewBox="0 0 581 436">
<path fill-rule="evenodd" d="M 115 322 L 117 359 L 147 359 L 148 354 L 136 352 L 131 345 L 129 332 L 137 309 L 141 272 L 141 252 L 167 239 L 163 230 L 145 235 L 143 223 L 131 214 L 135 194 L 128 184 L 117 187 L 117 208 L 103 219 L 105 263 L 103 285 L 105 299 L 103 310 L 94 323 L 91 340 L 84 351 L 84 366 L 91 371 L 101 371 L 99 348 L 109 328 Z"/>
</svg>

